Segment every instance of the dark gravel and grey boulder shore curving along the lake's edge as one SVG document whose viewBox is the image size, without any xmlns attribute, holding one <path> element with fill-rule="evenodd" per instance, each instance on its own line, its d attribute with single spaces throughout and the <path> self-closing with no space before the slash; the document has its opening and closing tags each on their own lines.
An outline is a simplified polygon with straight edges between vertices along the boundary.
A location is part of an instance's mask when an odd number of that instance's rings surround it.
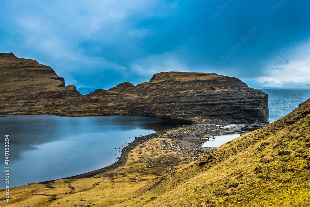
<svg viewBox="0 0 310 207">
<path fill-rule="evenodd" d="M 239 134 L 246 134 L 252 130 L 261 128 L 265 126 L 266 124 L 248 124 L 246 127 L 243 128 L 235 128 L 235 127 L 226 127 L 227 122 L 221 122 L 222 125 L 215 125 L 215 124 L 202 124 L 201 121 L 193 121 L 193 124 L 189 126 L 182 126 L 179 128 L 172 128 L 169 131 L 163 130 L 161 132 L 145 135 L 142 137 L 136 138 L 133 142 L 129 143 L 129 145 L 125 146 L 122 151 L 120 157 L 118 157 L 117 161 L 107 167 L 104 167 L 102 169 L 98 169 L 92 172 L 80 174 L 71 176 L 64 179 L 80 179 L 80 178 L 91 178 L 95 175 L 107 173 L 112 171 L 113 169 L 117 169 L 119 167 L 123 167 L 126 164 L 126 161 L 128 160 L 128 154 L 131 150 L 133 150 L 135 147 L 139 145 L 140 148 L 146 147 L 144 142 L 152 141 L 152 140 L 160 140 L 160 141 L 173 141 L 174 146 L 171 144 L 166 144 L 168 142 L 163 142 L 167 146 L 165 147 L 166 152 L 176 151 L 179 154 L 186 155 L 189 159 L 196 160 L 199 156 L 205 155 L 215 149 L 214 147 L 201 147 L 200 145 L 204 142 L 209 141 L 208 138 L 205 137 L 214 137 L 216 135 L 219 135 L 217 133 L 220 133 L 220 135 L 223 134 L 230 134 L 230 133 L 239 133 Z M 219 124 L 219 123 L 218 123 Z M 154 145 L 156 146 L 156 145 Z M 146 150 L 149 150 L 146 148 Z M 142 151 L 141 151 L 142 153 Z M 144 156 L 145 159 L 148 159 L 146 156 Z M 153 159 L 153 158 L 152 158 Z M 154 159 L 153 159 L 154 160 Z M 52 181 L 46 181 L 46 182 L 40 182 L 40 184 L 46 184 Z"/>
</svg>

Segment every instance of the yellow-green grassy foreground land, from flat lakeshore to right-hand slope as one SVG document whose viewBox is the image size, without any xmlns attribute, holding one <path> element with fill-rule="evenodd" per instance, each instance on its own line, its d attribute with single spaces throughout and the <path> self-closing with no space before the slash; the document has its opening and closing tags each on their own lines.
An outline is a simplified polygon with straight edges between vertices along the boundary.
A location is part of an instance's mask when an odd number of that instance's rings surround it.
<svg viewBox="0 0 310 207">
<path fill-rule="evenodd" d="M 127 84 L 128 85 L 128 84 Z M 129 85 L 128 85 L 129 86 Z M 289 115 L 233 139 L 196 161 L 168 138 L 131 149 L 126 164 L 91 178 L 10 189 L 20 206 L 309 206 L 310 99 Z"/>
</svg>

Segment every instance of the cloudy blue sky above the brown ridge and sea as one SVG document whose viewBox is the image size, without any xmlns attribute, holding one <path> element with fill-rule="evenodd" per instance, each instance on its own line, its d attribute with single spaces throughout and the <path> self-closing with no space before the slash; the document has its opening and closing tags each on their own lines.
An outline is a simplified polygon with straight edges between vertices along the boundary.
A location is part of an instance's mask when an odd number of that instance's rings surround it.
<svg viewBox="0 0 310 207">
<path fill-rule="evenodd" d="M 84 93 L 166 71 L 249 87 L 310 83 L 308 0 L 2 0 L 0 52 L 49 65 Z"/>
</svg>

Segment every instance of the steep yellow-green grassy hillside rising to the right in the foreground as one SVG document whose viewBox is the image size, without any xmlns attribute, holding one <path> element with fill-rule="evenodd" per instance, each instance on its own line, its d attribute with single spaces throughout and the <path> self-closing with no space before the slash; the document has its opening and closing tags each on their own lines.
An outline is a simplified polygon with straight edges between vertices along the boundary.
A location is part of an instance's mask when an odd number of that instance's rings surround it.
<svg viewBox="0 0 310 207">
<path fill-rule="evenodd" d="M 146 206 L 309 206 L 310 99 L 184 165 Z"/>
</svg>

